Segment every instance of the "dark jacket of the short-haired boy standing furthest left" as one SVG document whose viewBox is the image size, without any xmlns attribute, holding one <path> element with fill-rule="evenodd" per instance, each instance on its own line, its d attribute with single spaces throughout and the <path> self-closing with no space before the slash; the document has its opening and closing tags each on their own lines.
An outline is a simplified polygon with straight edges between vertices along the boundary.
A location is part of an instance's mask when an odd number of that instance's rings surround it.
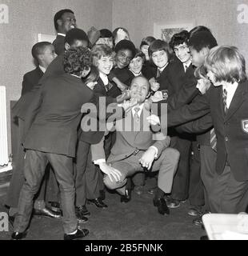
<svg viewBox="0 0 248 256">
<path fill-rule="evenodd" d="M 34 86 L 38 84 L 38 81 L 40 80 L 40 78 L 42 78 L 43 74 L 44 73 L 39 67 L 24 74 L 22 82 L 22 95 L 32 90 Z"/>
</svg>

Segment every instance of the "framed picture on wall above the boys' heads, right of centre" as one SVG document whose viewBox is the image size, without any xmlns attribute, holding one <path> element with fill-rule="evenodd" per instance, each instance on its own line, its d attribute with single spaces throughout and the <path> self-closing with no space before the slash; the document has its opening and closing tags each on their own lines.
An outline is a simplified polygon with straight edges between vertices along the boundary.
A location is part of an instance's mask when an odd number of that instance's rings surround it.
<svg viewBox="0 0 248 256">
<path fill-rule="evenodd" d="M 172 36 L 182 30 L 190 31 L 195 22 L 154 23 L 154 38 L 170 42 Z"/>
</svg>

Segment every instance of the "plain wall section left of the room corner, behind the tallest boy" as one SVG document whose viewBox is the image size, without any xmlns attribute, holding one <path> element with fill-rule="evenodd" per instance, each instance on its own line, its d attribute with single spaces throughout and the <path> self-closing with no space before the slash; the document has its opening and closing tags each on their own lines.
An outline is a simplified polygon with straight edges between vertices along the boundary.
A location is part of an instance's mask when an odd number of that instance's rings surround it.
<svg viewBox="0 0 248 256">
<path fill-rule="evenodd" d="M 10 153 L 10 100 L 20 97 L 22 76 L 34 69 L 30 50 L 37 34 L 55 34 L 54 14 L 65 8 L 74 10 L 83 30 L 91 26 L 111 30 L 112 0 L 0 0 L 0 4 L 9 6 L 9 23 L 0 24 L 0 84 L 6 86 Z"/>
</svg>

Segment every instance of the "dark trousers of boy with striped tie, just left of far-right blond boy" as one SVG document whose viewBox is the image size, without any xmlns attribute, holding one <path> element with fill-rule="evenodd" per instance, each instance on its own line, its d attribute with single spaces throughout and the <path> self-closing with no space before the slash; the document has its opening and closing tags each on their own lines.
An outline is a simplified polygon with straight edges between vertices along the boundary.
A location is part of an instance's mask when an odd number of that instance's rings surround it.
<svg viewBox="0 0 248 256">
<path fill-rule="evenodd" d="M 209 195 L 214 182 L 215 165 L 216 165 L 216 152 L 210 146 L 201 146 L 201 178 L 204 186 L 204 199 L 205 210 L 212 211 L 210 209 Z"/>
</svg>

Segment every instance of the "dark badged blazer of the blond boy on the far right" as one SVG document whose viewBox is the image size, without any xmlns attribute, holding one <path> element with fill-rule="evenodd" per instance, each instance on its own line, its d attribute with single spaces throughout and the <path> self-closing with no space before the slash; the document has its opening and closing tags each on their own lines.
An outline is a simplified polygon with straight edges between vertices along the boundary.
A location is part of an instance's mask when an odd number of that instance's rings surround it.
<svg viewBox="0 0 248 256">
<path fill-rule="evenodd" d="M 210 128 L 211 119 L 217 135 L 217 161 L 216 171 L 221 174 L 226 165 L 230 164 L 230 170 L 237 181 L 248 180 L 248 82 L 240 82 L 230 103 L 226 114 L 222 102 L 222 86 L 211 86 L 206 95 L 194 98 L 190 105 L 170 112 L 168 125 L 178 125 L 202 118 L 206 127 Z M 205 126 L 201 124 L 201 126 Z M 246 125 L 246 126 L 245 126 Z"/>
</svg>

